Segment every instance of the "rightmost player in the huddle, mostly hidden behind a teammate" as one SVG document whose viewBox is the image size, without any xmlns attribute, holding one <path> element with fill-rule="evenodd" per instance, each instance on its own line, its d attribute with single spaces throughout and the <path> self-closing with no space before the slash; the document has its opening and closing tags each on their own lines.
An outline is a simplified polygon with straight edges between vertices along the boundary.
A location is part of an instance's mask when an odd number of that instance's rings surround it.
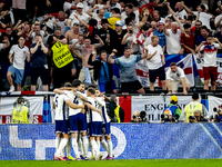
<svg viewBox="0 0 222 167">
<path fill-rule="evenodd" d="M 105 159 L 110 160 L 113 159 L 113 155 L 112 155 L 112 140 L 111 140 L 111 129 L 110 129 L 110 117 L 108 116 L 107 112 L 107 108 L 105 108 L 105 101 L 104 98 L 101 97 L 101 92 L 99 89 L 95 89 L 95 99 L 98 101 L 100 101 L 102 104 L 102 106 L 100 106 L 100 109 L 102 110 L 101 112 L 101 117 L 103 120 L 103 130 L 102 130 L 102 136 L 100 137 L 100 140 L 98 143 L 99 146 L 99 150 L 100 150 L 100 144 L 103 146 L 103 148 L 108 151 L 108 156 Z M 105 136 L 105 140 L 103 139 L 103 137 Z"/>
</svg>

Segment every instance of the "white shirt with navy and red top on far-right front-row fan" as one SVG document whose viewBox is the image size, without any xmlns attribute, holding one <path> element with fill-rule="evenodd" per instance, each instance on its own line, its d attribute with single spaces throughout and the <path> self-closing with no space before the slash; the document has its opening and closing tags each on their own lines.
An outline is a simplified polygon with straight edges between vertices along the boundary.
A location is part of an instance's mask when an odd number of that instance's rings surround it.
<svg viewBox="0 0 222 167">
<path fill-rule="evenodd" d="M 201 51 L 203 50 L 204 63 L 203 67 L 216 67 L 216 52 L 220 48 L 219 43 L 213 43 L 212 46 L 202 46 Z"/>
</svg>

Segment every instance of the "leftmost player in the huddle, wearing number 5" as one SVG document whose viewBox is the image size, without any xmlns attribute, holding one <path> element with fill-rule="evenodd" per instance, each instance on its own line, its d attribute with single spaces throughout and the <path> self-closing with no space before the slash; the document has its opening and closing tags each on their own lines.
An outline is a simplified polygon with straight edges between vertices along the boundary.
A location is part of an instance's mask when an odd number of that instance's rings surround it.
<svg viewBox="0 0 222 167">
<path fill-rule="evenodd" d="M 72 87 L 71 84 L 64 84 L 64 87 Z M 63 149 L 67 146 L 70 136 L 68 134 L 68 106 L 64 102 L 64 95 L 57 94 L 52 101 L 52 108 L 56 110 L 56 132 L 57 132 L 57 139 L 56 139 L 56 154 L 53 159 L 54 160 L 68 160 L 67 157 L 64 157 Z"/>
</svg>

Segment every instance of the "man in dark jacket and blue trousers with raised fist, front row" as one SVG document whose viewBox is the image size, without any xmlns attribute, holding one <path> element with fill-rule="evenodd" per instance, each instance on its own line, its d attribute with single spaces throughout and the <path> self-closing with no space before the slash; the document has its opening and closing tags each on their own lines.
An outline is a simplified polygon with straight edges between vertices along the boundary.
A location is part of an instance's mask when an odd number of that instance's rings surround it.
<svg viewBox="0 0 222 167">
<path fill-rule="evenodd" d="M 88 65 L 93 66 L 94 73 L 93 79 L 97 81 L 100 88 L 100 91 L 102 94 L 109 92 L 112 90 L 114 94 L 118 94 L 118 89 L 115 87 L 114 80 L 112 80 L 112 65 L 108 63 L 108 55 L 105 50 L 102 50 L 100 52 L 100 58 L 92 61 L 92 57 L 95 55 L 95 51 L 93 51 L 90 55 L 90 58 L 88 60 Z M 110 56 L 114 56 L 114 53 L 111 53 Z M 111 91 L 110 91 L 111 92 Z"/>
</svg>

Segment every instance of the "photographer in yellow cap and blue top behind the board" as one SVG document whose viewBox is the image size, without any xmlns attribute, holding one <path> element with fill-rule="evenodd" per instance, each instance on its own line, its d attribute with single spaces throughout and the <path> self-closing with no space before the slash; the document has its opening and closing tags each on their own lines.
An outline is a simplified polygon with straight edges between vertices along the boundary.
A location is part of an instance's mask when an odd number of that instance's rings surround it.
<svg viewBox="0 0 222 167">
<path fill-rule="evenodd" d="M 175 122 L 181 114 L 181 108 L 178 106 L 178 97 L 173 95 L 170 98 L 170 105 L 164 108 L 161 115 L 161 122 Z"/>
</svg>

